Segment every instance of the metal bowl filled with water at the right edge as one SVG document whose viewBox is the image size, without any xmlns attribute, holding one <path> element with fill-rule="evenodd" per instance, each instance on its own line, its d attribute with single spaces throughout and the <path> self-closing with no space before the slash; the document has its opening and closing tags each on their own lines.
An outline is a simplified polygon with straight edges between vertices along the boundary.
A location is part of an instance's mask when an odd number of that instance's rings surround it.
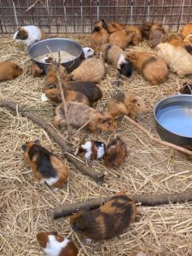
<svg viewBox="0 0 192 256">
<path fill-rule="evenodd" d="M 154 107 L 156 128 L 162 140 L 192 145 L 192 97 L 174 95 L 162 99 Z"/>
</svg>

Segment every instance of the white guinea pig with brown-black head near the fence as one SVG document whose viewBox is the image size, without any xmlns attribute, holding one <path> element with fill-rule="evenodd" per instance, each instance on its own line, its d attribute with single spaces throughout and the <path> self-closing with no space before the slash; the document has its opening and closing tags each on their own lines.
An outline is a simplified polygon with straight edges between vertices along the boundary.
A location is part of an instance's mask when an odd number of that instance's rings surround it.
<svg viewBox="0 0 192 256">
<path fill-rule="evenodd" d="M 46 39 L 45 32 L 38 26 L 21 26 L 14 34 L 15 42 L 22 42 L 26 47 L 44 39 Z"/>
</svg>

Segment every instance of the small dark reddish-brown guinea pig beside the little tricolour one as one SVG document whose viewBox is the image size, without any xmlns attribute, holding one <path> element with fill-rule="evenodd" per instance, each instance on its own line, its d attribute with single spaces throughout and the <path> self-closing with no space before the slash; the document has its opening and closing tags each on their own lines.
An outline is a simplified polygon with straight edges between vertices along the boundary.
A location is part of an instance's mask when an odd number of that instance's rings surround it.
<svg viewBox="0 0 192 256">
<path fill-rule="evenodd" d="M 119 166 L 126 156 L 126 146 L 125 143 L 117 137 L 108 143 L 105 149 L 105 154 L 103 157 L 105 166 L 116 167 Z"/>
</svg>

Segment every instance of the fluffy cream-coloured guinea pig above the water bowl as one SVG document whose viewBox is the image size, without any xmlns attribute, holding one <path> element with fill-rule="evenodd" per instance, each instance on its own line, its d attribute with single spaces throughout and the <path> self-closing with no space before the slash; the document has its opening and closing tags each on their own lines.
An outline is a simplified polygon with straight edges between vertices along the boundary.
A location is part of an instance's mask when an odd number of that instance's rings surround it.
<svg viewBox="0 0 192 256">
<path fill-rule="evenodd" d="M 166 61 L 172 72 L 176 72 L 179 78 L 192 73 L 192 57 L 182 47 L 161 43 L 157 47 L 157 55 Z"/>
</svg>

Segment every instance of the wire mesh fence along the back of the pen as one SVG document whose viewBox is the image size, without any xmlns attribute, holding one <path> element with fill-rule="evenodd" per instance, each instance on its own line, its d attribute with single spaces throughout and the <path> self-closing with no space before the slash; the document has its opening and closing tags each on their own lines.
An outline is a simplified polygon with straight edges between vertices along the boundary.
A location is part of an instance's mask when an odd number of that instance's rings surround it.
<svg viewBox="0 0 192 256">
<path fill-rule="evenodd" d="M 36 25 L 49 33 L 91 32 L 96 20 L 140 26 L 154 21 L 176 32 L 192 21 L 192 0 L 0 0 L 0 32 Z"/>
</svg>

